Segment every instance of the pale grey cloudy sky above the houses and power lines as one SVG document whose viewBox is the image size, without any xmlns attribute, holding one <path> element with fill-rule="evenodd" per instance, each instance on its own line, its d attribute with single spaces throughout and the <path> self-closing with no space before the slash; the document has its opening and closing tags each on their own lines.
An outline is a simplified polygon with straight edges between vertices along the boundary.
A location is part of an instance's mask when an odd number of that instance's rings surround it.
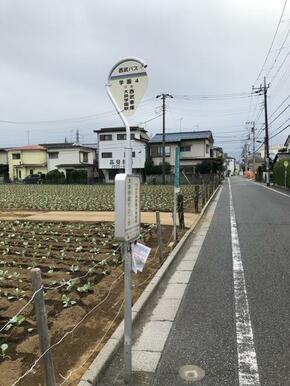
<svg viewBox="0 0 290 386">
<path fill-rule="evenodd" d="M 245 121 L 259 118 L 258 133 L 263 123 L 262 100 L 240 93 L 251 91 L 284 1 L 2 0 L 0 146 L 27 144 L 28 130 L 30 143 L 72 139 L 77 128 L 84 142 L 94 142 L 94 129 L 120 125 L 104 89 L 110 68 L 139 56 L 148 63 L 149 87 L 131 124 L 158 116 L 155 96 L 171 93 L 168 131 L 211 129 L 216 145 L 239 154 Z M 278 50 L 289 18 L 290 4 L 262 73 L 270 70 L 271 80 L 282 65 L 269 89 L 270 114 L 289 90 L 290 38 Z M 212 94 L 218 96 L 197 97 Z M 270 133 L 283 128 L 287 116 L 275 120 Z M 153 134 L 161 124 L 158 117 L 146 129 Z M 272 143 L 285 142 L 289 133 Z"/>
</svg>

